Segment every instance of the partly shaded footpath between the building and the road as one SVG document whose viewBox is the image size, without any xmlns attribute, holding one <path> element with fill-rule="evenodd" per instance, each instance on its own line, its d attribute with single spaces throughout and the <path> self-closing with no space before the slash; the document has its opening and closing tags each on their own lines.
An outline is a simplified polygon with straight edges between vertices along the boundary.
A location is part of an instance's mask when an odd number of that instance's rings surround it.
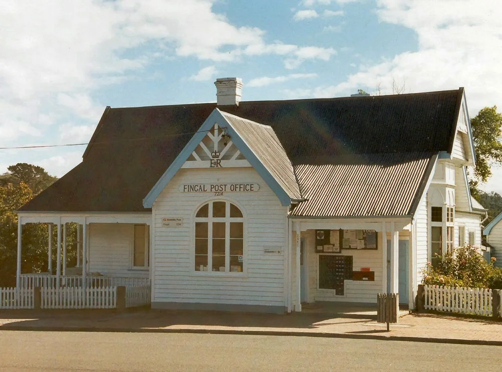
<svg viewBox="0 0 502 372">
<path fill-rule="evenodd" d="M 405 313 L 406 314 L 406 313 Z M 286 315 L 171 310 L 0 310 L 0 330 L 190 332 L 345 337 L 502 346 L 502 322 L 434 314 L 406 314 L 376 323 L 371 312 Z"/>
</svg>

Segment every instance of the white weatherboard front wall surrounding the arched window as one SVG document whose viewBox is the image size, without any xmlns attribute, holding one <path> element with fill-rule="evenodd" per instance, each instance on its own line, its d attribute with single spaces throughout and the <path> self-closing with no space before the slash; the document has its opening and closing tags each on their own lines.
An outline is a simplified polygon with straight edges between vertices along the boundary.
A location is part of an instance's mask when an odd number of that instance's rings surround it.
<svg viewBox="0 0 502 372">
<path fill-rule="evenodd" d="M 241 183 L 260 185 L 258 192 L 183 193 L 187 183 Z M 206 202 L 228 200 L 244 215 L 244 273 L 194 271 L 194 218 Z M 153 302 L 285 306 L 285 208 L 260 175 L 250 167 L 180 169 L 155 201 Z M 166 228 L 163 218 L 182 218 L 183 226 Z M 281 253 L 265 253 L 280 247 Z M 209 275 L 208 275 L 209 274 Z M 155 303 L 160 303 L 159 305 Z M 209 307 L 209 306 L 208 306 Z"/>
</svg>

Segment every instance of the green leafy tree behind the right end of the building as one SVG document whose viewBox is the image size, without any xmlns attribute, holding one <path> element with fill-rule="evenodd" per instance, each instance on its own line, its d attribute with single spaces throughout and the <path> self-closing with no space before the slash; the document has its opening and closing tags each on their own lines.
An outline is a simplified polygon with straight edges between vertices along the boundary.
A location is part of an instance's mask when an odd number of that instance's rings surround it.
<svg viewBox="0 0 502 372">
<path fill-rule="evenodd" d="M 469 181 L 471 195 L 479 201 L 478 183 L 486 182 L 491 176 L 491 166 L 502 162 L 502 114 L 497 107 L 485 107 L 471 119 L 476 166 L 474 179 Z"/>
</svg>

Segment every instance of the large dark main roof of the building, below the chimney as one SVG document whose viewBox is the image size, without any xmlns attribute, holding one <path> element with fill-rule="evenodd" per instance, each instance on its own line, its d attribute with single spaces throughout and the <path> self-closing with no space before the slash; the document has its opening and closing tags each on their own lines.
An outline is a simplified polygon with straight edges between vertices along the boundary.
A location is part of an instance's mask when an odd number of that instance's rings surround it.
<svg viewBox="0 0 502 372">
<path fill-rule="evenodd" d="M 451 152 L 463 89 L 221 107 L 270 125 L 289 158 Z M 142 212 L 142 201 L 215 103 L 106 109 L 83 161 L 20 211 Z"/>
</svg>

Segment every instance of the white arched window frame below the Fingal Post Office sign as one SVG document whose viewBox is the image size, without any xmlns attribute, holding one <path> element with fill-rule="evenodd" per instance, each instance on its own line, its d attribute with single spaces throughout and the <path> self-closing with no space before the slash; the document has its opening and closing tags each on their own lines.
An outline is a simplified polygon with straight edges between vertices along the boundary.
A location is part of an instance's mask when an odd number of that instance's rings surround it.
<svg viewBox="0 0 502 372">
<path fill-rule="evenodd" d="M 213 203 L 224 202 L 225 203 L 225 217 L 212 217 L 213 215 Z M 197 212 L 209 204 L 208 207 L 208 217 L 195 217 Z M 242 214 L 242 217 L 230 217 L 230 204 L 237 207 Z M 196 222 L 207 222 L 207 267 L 208 271 L 197 271 L 195 270 L 195 223 Z M 225 271 L 209 271 L 212 269 L 212 223 L 213 222 L 225 222 L 228 223 L 225 229 Z M 242 222 L 242 272 L 231 272 L 230 271 L 230 222 Z M 231 277 L 243 277 L 247 275 L 247 263 L 246 263 L 246 241 L 247 241 L 247 219 L 242 206 L 230 199 L 210 199 L 199 205 L 195 209 L 193 215 L 192 227 L 192 249 L 191 249 L 191 263 L 192 263 L 192 274 L 196 276 L 231 276 Z"/>
</svg>

